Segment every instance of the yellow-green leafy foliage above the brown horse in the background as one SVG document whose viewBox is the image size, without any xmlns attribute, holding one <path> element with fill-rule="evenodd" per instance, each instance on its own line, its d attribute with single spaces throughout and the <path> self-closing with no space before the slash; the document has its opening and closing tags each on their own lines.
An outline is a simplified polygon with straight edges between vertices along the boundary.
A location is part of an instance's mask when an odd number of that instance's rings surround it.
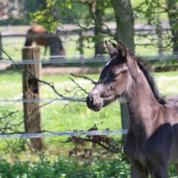
<svg viewBox="0 0 178 178">
<path fill-rule="evenodd" d="M 33 19 L 53 32 L 59 24 L 88 22 L 89 13 L 84 2 L 73 0 L 46 0 L 46 8 L 33 14 Z"/>
</svg>

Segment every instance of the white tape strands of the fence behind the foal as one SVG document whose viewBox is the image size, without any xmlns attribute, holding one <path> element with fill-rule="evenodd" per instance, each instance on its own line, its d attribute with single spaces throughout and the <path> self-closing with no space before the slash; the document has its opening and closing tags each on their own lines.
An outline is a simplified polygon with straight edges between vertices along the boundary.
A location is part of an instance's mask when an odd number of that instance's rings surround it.
<svg viewBox="0 0 178 178">
<path fill-rule="evenodd" d="M 4 35 L 4 37 L 17 37 L 19 34 L 12 34 L 10 36 Z M 25 34 L 22 34 L 21 37 L 25 37 Z M 178 54 L 171 54 L 171 55 L 163 55 L 159 54 L 156 56 L 142 56 L 145 60 L 170 60 L 170 59 L 178 59 Z M 3 58 L 0 60 L 0 65 L 7 64 L 7 65 L 14 65 L 15 68 L 17 66 L 25 66 L 31 64 L 41 64 L 41 65 L 63 65 L 63 64 L 72 64 L 72 63 L 103 63 L 109 59 L 107 55 L 101 55 L 93 58 L 85 58 L 83 55 L 81 56 L 74 56 L 71 58 L 67 58 L 66 56 L 50 56 L 49 59 L 40 60 L 36 59 L 13 59 L 9 60 L 9 57 Z M 23 68 L 23 67 L 22 67 Z M 40 98 L 40 99 L 1 99 L 0 103 L 52 103 L 52 102 L 68 102 L 69 98 L 61 97 L 61 98 Z M 84 102 L 85 100 L 82 100 Z M 53 131 L 42 131 L 42 132 L 32 132 L 32 133 L 2 133 L 0 134 L 0 139 L 31 139 L 31 138 L 43 138 L 43 137 L 55 137 L 55 136 L 86 136 L 86 135 L 123 135 L 126 134 L 127 130 L 115 130 L 115 131 L 64 131 L 64 132 L 53 132 Z"/>
</svg>

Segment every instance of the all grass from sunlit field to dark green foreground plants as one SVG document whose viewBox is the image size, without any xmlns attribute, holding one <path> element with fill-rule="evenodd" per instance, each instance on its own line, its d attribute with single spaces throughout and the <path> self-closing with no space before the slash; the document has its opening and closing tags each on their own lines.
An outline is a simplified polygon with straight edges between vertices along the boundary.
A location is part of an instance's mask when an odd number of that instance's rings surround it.
<svg viewBox="0 0 178 178">
<path fill-rule="evenodd" d="M 177 72 L 162 72 L 153 74 L 158 84 L 159 90 L 163 95 L 174 96 L 178 94 L 178 75 Z M 87 75 L 97 80 L 98 75 Z M 16 100 L 22 97 L 22 79 L 21 73 L 15 70 L 1 72 L 1 100 Z M 76 87 L 70 80 L 70 75 L 44 75 L 42 79 L 55 84 L 60 93 L 65 95 L 85 95 L 81 91 L 75 91 Z M 86 90 L 90 90 L 92 84 L 84 79 L 75 78 Z M 40 86 L 41 98 L 57 98 L 54 92 L 47 86 Z M 42 103 L 43 104 L 43 103 Z M 11 122 L 19 123 L 23 120 L 22 103 L 1 102 L 1 117 L 13 111 L 18 111 L 10 117 Z M 51 131 L 66 130 L 87 130 L 94 124 L 100 130 L 109 128 L 116 130 L 121 128 L 120 109 L 118 102 L 106 107 L 101 112 L 90 111 L 85 103 L 66 103 L 62 101 L 53 102 L 41 108 L 42 129 Z M 1 123 L 2 124 L 2 123 Z M 19 128 L 18 128 L 19 127 Z M 17 126 L 17 130 L 23 130 L 23 125 Z M 118 139 L 118 137 L 115 137 Z M 127 178 L 129 175 L 129 165 L 124 159 L 123 154 L 107 154 L 107 156 L 96 156 L 94 160 L 69 158 L 67 155 L 73 144 L 66 143 L 66 137 L 45 138 L 46 149 L 42 154 L 34 154 L 30 151 L 24 151 L 21 143 L 15 143 L 14 140 L 1 140 L 0 146 L 0 175 L 1 177 L 98 177 L 109 178 L 119 177 Z M 12 144 L 10 146 L 10 144 Z M 97 148 L 100 150 L 101 148 Z M 4 154 L 6 153 L 6 154 Z M 111 156 L 112 155 L 112 156 Z M 114 155 L 114 156 L 113 156 Z M 58 158 L 60 157 L 60 158 Z M 63 158 L 62 158 L 63 157 Z M 66 160 L 67 157 L 67 160 Z M 2 161 L 2 160 L 6 161 Z M 74 160 L 73 160 L 74 159 Z M 107 159 L 107 161 L 100 161 Z M 78 158 L 77 158 L 78 160 Z M 82 161 L 81 161 L 82 160 Z M 93 162 L 92 165 L 88 162 Z M 9 164 L 8 162 L 13 162 Z M 81 167 L 81 164 L 87 164 Z M 7 171 L 8 170 L 8 171 Z M 16 173 L 14 173 L 14 170 Z M 72 176 L 73 175 L 73 176 Z M 174 176 L 174 168 L 170 168 L 170 177 Z"/>
</svg>

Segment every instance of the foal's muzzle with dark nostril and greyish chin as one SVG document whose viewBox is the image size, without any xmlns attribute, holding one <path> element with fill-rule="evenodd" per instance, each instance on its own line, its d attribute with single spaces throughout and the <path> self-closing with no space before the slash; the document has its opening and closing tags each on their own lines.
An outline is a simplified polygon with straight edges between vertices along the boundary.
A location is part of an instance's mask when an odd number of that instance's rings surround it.
<svg viewBox="0 0 178 178">
<path fill-rule="evenodd" d="M 93 111 L 99 111 L 103 107 L 103 100 L 99 96 L 89 94 L 86 98 L 88 108 Z"/>
</svg>

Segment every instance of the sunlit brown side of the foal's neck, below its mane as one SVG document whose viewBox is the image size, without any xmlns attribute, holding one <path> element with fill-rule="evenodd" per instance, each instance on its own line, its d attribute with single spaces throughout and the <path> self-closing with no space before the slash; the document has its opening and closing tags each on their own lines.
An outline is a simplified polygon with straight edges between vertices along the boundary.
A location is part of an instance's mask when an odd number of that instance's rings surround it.
<svg viewBox="0 0 178 178">
<path fill-rule="evenodd" d="M 137 73 L 138 72 L 138 73 Z M 138 69 L 128 91 L 127 103 L 130 113 L 130 128 L 136 134 L 147 137 L 154 131 L 154 122 L 159 114 L 160 104 L 156 100 L 143 72 Z"/>
</svg>

